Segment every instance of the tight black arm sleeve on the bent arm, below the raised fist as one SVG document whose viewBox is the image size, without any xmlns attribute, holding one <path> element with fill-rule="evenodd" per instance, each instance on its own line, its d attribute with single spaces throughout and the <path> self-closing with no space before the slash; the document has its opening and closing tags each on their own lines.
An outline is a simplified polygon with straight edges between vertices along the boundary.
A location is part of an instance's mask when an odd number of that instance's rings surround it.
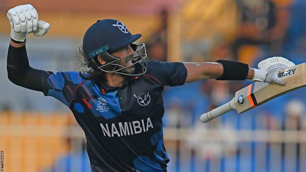
<svg viewBox="0 0 306 172">
<path fill-rule="evenodd" d="M 48 72 L 52 74 L 52 72 Z M 30 67 L 25 46 L 16 48 L 9 45 L 7 54 L 7 74 L 11 82 L 24 88 L 35 91 L 43 91 L 43 80 L 47 80 L 48 73 L 44 70 L 38 70 Z"/>
</svg>

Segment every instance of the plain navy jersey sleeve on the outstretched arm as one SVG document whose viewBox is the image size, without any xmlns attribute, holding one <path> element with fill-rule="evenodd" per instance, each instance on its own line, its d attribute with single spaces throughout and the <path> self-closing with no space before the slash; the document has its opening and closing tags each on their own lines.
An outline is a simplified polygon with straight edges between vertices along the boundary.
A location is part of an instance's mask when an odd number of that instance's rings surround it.
<svg viewBox="0 0 306 172">
<path fill-rule="evenodd" d="M 187 69 L 181 62 L 159 62 L 151 60 L 147 63 L 147 74 L 157 78 L 163 85 L 183 85 L 187 77 Z"/>
</svg>

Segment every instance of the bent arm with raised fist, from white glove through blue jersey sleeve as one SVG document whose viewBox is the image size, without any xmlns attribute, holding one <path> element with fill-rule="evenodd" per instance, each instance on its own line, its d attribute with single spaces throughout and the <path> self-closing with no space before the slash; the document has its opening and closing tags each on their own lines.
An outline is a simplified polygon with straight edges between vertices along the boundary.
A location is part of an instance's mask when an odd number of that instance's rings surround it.
<svg viewBox="0 0 306 172">
<path fill-rule="evenodd" d="M 26 35 L 33 33 L 34 36 L 43 36 L 49 31 L 50 24 L 38 21 L 35 8 L 29 4 L 10 9 L 7 17 L 12 27 L 12 39 L 7 55 L 9 80 L 21 87 L 43 92 L 45 96 L 52 96 L 70 107 L 75 90 L 83 82 L 78 72 L 53 73 L 34 69 L 28 61 Z"/>
</svg>

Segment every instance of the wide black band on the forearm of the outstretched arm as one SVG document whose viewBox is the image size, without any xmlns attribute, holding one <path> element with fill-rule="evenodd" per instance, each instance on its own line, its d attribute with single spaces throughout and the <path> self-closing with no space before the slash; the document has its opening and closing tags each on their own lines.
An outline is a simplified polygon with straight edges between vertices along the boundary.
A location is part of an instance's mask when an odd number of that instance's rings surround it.
<svg viewBox="0 0 306 172">
<path fill-rule="evenodd" d="M 223 74 L 216 80 L 245 80 L 248 77 L 248 64 L 229 61 L 217 60 L 223 66 Z"/>
</svg>

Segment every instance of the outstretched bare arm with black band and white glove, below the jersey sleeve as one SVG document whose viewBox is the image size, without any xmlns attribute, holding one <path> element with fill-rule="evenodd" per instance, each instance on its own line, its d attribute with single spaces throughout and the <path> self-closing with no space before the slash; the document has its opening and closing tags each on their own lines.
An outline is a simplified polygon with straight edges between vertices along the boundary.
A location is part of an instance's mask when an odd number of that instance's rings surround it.
<svg viewBox="0 0 306 172">
<path fill-rule="evenodd" d="M 259 69 L 249 68 L 247 64 L 228 60 L 218 60 L 214 63 L 184 63 L 184 65 L 187 69 L 185 82 L 194 82 L 203 79 L 249 79 L 251 81 L 285 85 L 285 82 L 278 77 L 278 72 L 294 64 L 283 57 L 272 57 L 260 62 L 258 64 Z"/>
</svg>

